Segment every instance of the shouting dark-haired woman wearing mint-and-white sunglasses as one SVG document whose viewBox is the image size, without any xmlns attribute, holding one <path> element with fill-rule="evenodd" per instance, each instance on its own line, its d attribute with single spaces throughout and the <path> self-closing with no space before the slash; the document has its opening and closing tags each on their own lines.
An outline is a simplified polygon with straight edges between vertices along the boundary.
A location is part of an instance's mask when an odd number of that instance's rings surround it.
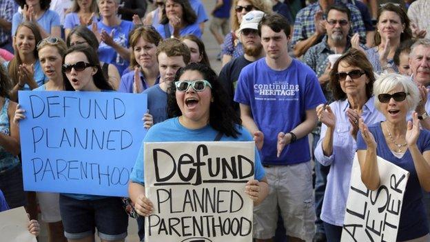
<svg viewBox="0 0 430 242">
<path fill-rule="evenodd" d="M 240 125 L 240 119 L 227 105 L 227 97 L 215 72 L 200 63 L 191 63 L 176 72 L 170 85 L 168 113 L 172 119 L 157 123 L 147 132 L 145 142 L 165 141 L 252 141 L 252 136 Z M 136 212 L 149 216 L 153 210 L 145 196 L 143 146 L 130 176 L 129 194 Z M 258 204 L 269 192 L 258 152 L 255 155 L 255 180 L 248 181 L 245 193 Z"/>
</svg>

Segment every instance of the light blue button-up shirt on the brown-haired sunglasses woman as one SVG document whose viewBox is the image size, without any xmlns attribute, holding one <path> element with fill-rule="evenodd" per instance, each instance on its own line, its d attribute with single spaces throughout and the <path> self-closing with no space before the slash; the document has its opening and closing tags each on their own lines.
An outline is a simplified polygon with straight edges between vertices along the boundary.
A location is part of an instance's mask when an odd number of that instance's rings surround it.
<svg viewBox="0 0 430 242">
<path fill-rule="evenodd" d="M 367 124 L 385 120 L 384 115 L 376 110 L 373 103 L 374 97 L 371 97 L 362 108 L 361 117 Z M 323 139 L 327 132 L 325 124 L 321 128 L 321 137 L 314 153 L 321 164 L 331 165 L 320 218 L 331 225 L 342 226 L 351 180 L 352 162 L 356 153 L 356 140 L 349 133 L 351 127 L 346 113 L 349 108 L 348 99 L 334 101 L 330 104 L 330 108 L 336 116 L 333 153 L 330 157 L 326 157 L 323 153 Z"/>
</svg>

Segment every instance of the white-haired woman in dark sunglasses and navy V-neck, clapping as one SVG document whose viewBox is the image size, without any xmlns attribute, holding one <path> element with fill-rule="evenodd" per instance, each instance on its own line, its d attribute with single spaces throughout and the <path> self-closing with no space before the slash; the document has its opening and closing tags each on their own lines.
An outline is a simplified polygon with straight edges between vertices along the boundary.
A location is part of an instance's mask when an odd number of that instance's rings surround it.
<svg viewBox="0 0 430 242">
<path fill-rule="evenodd" d="M 375 107 L 386 120 L 367 126 L 360 119 L 357 154 L 362 182 L 369 190 L 379 188 L 376 156 L 407 170 L 397 241 L 430 241 L 422 201 L 422 189 L 430 192 L 430 132 L 420 129 L 416 112 L 407 121 L 420 101 L 420 91 L 409 77 L 387 74 L 375 82 L 373 93 L 378 97 Z"/>
</svg>

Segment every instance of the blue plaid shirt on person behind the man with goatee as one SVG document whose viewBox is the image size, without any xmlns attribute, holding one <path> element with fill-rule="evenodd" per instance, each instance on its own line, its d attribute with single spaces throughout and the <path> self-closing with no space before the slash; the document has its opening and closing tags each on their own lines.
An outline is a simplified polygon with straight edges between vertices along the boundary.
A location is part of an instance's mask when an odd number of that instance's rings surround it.
<svg viewBox="0 0 430 242">
<path fill-rule="evenodd" d="M 341 1 L 335 1 L 335 4 L 343 4 Z M 360 41 L 366 41 L 365 24 L 362 21 L 360 10 L 351 3 L 346 3 L 347 8 L 351 10 L 351 30 L 349 34 L 352 36 L 358 32 L 360 34 Z M 296 21 L 294 22 L 293 38 L 291 39 L 291 46 L 295 46 L 298 41 L 308 39 L 315 32 L 314 16 L 320 10 L 318 1 L 312 3 L 306 8 L 303 8 L 297 13 Z M 326 18 L 327 16 L 324 16 Z M 322 39 L 322 38 L 321 38 Z"/>
</svg>

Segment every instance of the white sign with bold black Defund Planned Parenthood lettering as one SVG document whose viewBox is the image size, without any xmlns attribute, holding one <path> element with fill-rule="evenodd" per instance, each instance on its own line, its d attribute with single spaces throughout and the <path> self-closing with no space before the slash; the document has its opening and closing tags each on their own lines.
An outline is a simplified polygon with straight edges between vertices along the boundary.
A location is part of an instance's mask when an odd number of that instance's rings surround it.
<svg viewBox="0 0 430 242">
<path fill-rule="evenodd" d="M 144 145 L 145 241 L 252 241 L 254 142 Z"/>
</svg>

